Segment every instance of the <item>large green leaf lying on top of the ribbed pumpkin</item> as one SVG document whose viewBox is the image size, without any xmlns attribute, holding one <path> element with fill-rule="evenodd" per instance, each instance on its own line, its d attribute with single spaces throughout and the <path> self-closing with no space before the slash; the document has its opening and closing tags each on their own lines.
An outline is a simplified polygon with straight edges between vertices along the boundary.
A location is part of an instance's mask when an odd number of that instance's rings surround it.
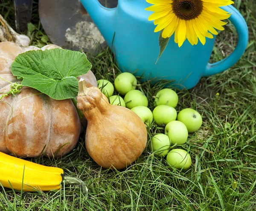
<svg viewBox="0 0 256 211">
<path fill-rule="evenodd" d="M 23 80 L 23 86 L 35 88 L 55 100 L 64 100 L 77 96 L 76 77 L 86 74 L 91 67 L 84 53 L 53 48 L 19 54 L 11 71 Z"/>
</svg>

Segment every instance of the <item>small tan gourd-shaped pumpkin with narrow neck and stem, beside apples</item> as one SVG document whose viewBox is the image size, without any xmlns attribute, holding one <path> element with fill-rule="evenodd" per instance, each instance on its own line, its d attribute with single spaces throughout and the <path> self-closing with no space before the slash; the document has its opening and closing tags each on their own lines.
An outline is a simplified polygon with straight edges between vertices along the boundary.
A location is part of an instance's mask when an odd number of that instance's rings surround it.
<svg viewBox="0 0 256 211">
<path fill-rule="evenodd" d="M 85 147 L 98 165 L 122 169 L 140 157 L 147 143 L 147 130 L 137 114 L 111 105 L 99 88 L 87 88 L 82 79 L 77 102 L 87 119 Z"/>
</svg>

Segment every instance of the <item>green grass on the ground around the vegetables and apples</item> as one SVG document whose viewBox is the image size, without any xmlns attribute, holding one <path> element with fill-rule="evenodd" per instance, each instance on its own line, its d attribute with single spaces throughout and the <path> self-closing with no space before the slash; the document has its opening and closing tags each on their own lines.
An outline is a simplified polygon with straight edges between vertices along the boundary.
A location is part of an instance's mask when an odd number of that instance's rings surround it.
<svg viewBox="0 0 256 211">
<path fill-rule="evenodd" d="M 7 2 L 7 0 L 5 1 Z M 14 26 L 13 7 L 0 1 L 0 12 Z M 32 43 L 48 43 L 33 14 Z M 84 134 L 73 151 L 62 158 L 29 159 L 42 165 L 63 168 L 70 176 L 86 182 L 88 198 L 79 185 L 61 190 L 27 193 L 0 187 L 1 211 L 255 211 L 256 210 L 256 3 L 236 1 L 250 29 L 243 57 L 221 74 L 204 77 L 189 91 L 178 91 L 177 111 L 194 108 L 203 125 L 189 134 L 186 144 L 192 167 L 180 172 L 169 169 L 165 159 L 147 147 L 136 163 L 122 171 L 100 168 L 84 147 Z M 43 40 L 42 40 L 42 37 Z M 44 42 L 46 41 L 46 42 Z M 228 24 L 216 41 L 211 62 L 226 57 L 237 43 L 233 25 Z M 120 73 L 109 49 L 88 55 L 97 79 L 114 81 Z M 153 96 L 163 84 L 141 84 L 153 109 Z M 216 95 L 219 93 L 219 95 Z M 151 125 L 148 138 L 163 132 Z M 49 178 L 51 180 L 51 178 Z"/>
</svg>

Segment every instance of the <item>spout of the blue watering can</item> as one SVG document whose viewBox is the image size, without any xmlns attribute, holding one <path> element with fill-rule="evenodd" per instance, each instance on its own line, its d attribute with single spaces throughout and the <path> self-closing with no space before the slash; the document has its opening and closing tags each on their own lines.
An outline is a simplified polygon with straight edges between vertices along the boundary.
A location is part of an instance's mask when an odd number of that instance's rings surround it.
<svg viewBox="0 0 256 211">
<path fill-rule="evenodd" d="M 108 45 L 111 45 L 114 36 L 116 8 L 106 8 L 99 0 L 81 0 L 82 5 L 90 15 Z"/>
</svg>

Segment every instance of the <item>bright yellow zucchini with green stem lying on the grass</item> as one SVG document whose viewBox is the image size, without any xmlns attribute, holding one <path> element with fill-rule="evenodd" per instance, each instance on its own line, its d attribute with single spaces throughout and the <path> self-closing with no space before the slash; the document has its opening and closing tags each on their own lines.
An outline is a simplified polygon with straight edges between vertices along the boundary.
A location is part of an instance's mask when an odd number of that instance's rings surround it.
<svg viewBox="0 0 256 211">
<path fill-rule="evenodd" d="M 61 168 L 49 167 L 0 152 L 0 183 L 5 188 L 23 191 L 50 191 L 61 189 L 62 183 L 81 184 L 78 178 L 64 176 Z"/>
</svg>

